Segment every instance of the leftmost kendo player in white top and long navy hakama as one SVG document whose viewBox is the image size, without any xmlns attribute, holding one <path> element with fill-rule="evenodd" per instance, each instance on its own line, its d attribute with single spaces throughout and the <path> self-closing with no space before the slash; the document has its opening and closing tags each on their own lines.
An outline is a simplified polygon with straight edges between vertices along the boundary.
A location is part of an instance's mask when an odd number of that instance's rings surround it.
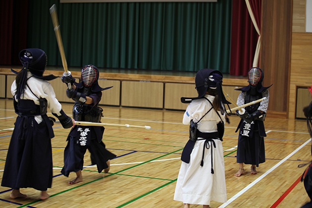
<svg viewBox="0 0 312 208">
<path fill-rule="evenodd" d="M 62 110 L 54 90 L 47 81 L 57 78 L 43 76 L 47 56 L 41 49 L 25 49 L 19 53 L 23 64 L 11 86 L 15 113 L 18 114 L 6 156 L 1 186 L 12 188 L 10 198 L 25 198 L 20 188 L 41 191 L 40 199 L 49 198 L 52 185 L 52 125 L 55 118 L 47 116 L 49 108 L 64 128 L 73 125 Z"/>
</svg>

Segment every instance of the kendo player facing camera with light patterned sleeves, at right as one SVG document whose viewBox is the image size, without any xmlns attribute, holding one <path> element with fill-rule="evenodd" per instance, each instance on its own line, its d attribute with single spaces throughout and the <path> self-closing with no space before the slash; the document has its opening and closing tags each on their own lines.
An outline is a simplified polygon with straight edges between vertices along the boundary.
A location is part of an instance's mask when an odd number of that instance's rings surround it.
<svg viewBox="0 0 312 208">
<path fill-rule="evenodd" d="M 237 105 L 247 104 L 261 98 L 266 100 L 257 104 L 249 105 L 237 110 L 236 114 L 241 118 L 236 129 L 239 129 L 237 146 L 237 163 L 239 170 L 234 175 L 239 177 L 245 173 L 244 163 L 251 164 L 251 174 L 257 174 L 256 166 L 265 162 L 264 138 L 266 137 L 264 129 L 264 118 L 269 101 L 268 88 L 263 87 L 263 71 L 258 67 L 252 67 L 248 71 L 249 85 L 236 90 L 242 91 L 237 98 Z"/>
</svg>

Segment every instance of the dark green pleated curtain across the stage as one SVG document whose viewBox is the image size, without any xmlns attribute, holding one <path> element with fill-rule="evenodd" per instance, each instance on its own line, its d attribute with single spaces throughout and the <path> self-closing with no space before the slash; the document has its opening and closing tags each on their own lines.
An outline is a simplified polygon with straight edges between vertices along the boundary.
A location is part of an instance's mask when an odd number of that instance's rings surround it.
<svg viewBox="0 0 312 208">
<path fill-rule="evenodd" d="M 68 66 L 229 73 L 232 2 L 59 3 L 29 0 L 27 45 L 62 65 L 49 8 L 55 3 Z"/>
</svg>

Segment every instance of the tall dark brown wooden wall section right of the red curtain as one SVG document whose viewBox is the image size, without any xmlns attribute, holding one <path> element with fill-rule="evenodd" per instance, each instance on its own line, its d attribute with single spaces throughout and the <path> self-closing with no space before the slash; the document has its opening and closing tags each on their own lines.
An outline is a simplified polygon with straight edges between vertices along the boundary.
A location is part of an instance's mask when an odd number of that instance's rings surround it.
<svg viewBox="0 0 312 208">
<path fill-rule="evenodd" d="M 292 0 L 262 0 L 260 68 L 269 89 L 268 110 L 287 116 L 292 32 Z"/>
</svg>

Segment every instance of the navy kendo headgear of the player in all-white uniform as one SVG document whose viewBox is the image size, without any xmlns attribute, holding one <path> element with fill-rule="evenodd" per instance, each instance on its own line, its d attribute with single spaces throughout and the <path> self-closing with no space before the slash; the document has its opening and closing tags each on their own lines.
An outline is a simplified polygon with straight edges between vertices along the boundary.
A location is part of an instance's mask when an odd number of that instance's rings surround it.
<svg viewBox="0 0 312 208">
<path fill-rule="evenodd" d="M 216 89 L 218 96 L 219 96 L 219 101 L 220 101 L 220 110 L 221 113 L 223 114 L 225 106 L 224 104 L 231 104 L 228 102 L 223 94 L 222 91 L 222 79 L 223 75 L 220 71 L 214 70 L 214 69 L 201 69 L 197 72 L 195 76 L 195 84 L 196 84 L 196 89 L 198 93 L 197 98 L 181 98 L 182 103 L 191 103 L 193 100 L 197 100 L 200 98 L 203 98 L 208 90 L 210 89 Z"/>
</svg>

